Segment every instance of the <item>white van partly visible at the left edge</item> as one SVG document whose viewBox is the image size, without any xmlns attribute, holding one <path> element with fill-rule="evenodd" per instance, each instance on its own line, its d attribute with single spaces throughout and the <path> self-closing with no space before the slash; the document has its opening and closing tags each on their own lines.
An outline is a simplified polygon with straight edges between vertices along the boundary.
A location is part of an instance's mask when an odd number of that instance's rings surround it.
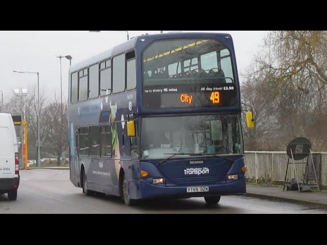
<svg viewBox="0 0 327 245">
<path fill-rule="evenodd" d="M 17 199 L 19 158 L 14 121 L 10 114 L 0 113 L 0 194 Z"/>
</svg>

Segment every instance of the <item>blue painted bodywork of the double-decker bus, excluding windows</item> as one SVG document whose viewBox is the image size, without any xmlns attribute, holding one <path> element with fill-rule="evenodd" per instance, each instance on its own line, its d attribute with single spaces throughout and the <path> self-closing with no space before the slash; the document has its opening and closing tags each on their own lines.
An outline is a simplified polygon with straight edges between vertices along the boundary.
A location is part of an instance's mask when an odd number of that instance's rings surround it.
<svg viewBox="0 0 327 245">
<path fill-rule="evenodd" d="M 226 38 L 227 37 L 227 38 Z M 238 102 L 235 106 L 222 108 L 172 108 L 172 109 L 147 109 L 142 106 L 142 52 L 153 41 L 159 39 L 170 38 L 216 38 L 225 44 L 230 51 L 231 61 L 234 67 L 235 85 L 238 92 Z M 145 41 L 141 41 L 145 39 Z M 144 199 L 155 197 L 193 197 L 204 195 L 221 195 L 244 193 L 246 191 L 244 173 L 241 171 L 244 166 L 244 158 L 235 157 L 233 162 L 222 160 L 215 157 L 199 158 L 205 160 L 204 164 L 189 165 L 187 162 L 191 159 L 177 160 L 170 159 L 166 163 L 157 167 L 159 161 L 137 160 L 130 157 L 130 144 L 127 137 L 126 125 L 123 129 L 122 119 L 127 120 L 127 115 L 131 112 L 136 114 L 137 132 L 141 135 L 141 120 L 145 115 L 158 114 L 202 114 L 202 113 L 237 113 L 240 115 L 240 86 L 238 72 L 236 66 L 235 52 L 233 48 L 232 38 L 229 34 L 216 33 L 173 33 L 160 35 L 145 35 L 135 37 L 134 39 L 125 42 L 119 46 L 112 48 L 109 51 L 103 52 L 98 56 L 72 66 L 69 69 L 69 74 L 79 69 L 85 68 L 91 64 L 103 61 L 107 58 L 114 57 L 125 51 L 135 49 L 136 58 L 136 90 L 113 94 L 97 99 L 88 100 L 69 104 L 68 108 L 68 142 L 71 150 L 70 155 L 70 176 L 71 181 L 75 186 L 81 187 L 81 169 L 84 168 L 88 188 L 112 195 L 120 195 L 119 178 L 120 172 L 124 171 L 128 183 L 129 196 L 131 199 Z M 70 84 L 71 77 L 68 78 Z M 68 86 L 68 101 L 70 101 L 70 86 Z M 111 107 L 110 107 L 111 102 Z M 132 102 L 132 110 L 128 109 L 128 103 Z M 116 113 L 112 110 L 112 106 L 116 105 Z M 118 132 L 119 142 L 119 159 L 100 158 L 92 156 L 79 156 L 77 154 L 76 131 L 79 127 L 92 125 L 105 125 L 109 121 L 112 122 L 113 114 L 115 114 L 113 129 Z M 122 118 L 122 116 L 124 118 Z M 124 138 L 125 145 L 122 144 Z M 114 154 L 113 154 L 114 155 Z M 120 165 L 117 170 L 115 166 Z M 208 167 L 209 174 L 201 176 L 184 176 L 186 167 Z M 147 170 L 149 176 L 141 179 L 140 170 Z M 227 174 L 238 174 L 239 180 L 227 181 Z M 163 185 L 152 184 L 152 178 L 162 177 L 166 179 Z M 207 177 L 207 178 L 206 178 Z M 201 192 L 195 194 L 186 193 L 186 186 L 209 186 L 210 192 Z"/>
</svg>

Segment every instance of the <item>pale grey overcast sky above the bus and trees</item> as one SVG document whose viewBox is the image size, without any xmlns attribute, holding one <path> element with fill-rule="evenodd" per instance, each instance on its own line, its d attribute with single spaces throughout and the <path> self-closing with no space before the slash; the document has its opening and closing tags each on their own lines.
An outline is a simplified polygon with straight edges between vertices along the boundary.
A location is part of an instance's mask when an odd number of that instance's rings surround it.
<svg viewBox="0 0 327 245">
<path fill-rule="evenodd" d="M 164 31 L 164 33 L 170 31 Z M 183 31 L 189 32 L 189 31 Z M 209 32 L 209 31 L 199 31 Z M 268 31 L 210 31 L 229 33 L 234 42 L 239 76 L 245 72 L 253 55 L 262 45 Z M 160 31 L 129 31 L 130 37 L 142 34 L 158 34 Z M 36 84 L 34 74 L 19 74 L 13 70 L 38 71 L 40 89 L 48 96 L 54 93 L 60 97 L 60 63 L 56 56 L 71 55 L 72 63 L 101 53 L 127 40 L 127 33 L 121 31 L 0 31 L 0 90 L 4 101 L 12 95 L 12 90 Z M 62 59 L 62 90 L 67 97 L 69 61 Z M 241 76 L 240 79 L 242 80 Z"/>
</svg>

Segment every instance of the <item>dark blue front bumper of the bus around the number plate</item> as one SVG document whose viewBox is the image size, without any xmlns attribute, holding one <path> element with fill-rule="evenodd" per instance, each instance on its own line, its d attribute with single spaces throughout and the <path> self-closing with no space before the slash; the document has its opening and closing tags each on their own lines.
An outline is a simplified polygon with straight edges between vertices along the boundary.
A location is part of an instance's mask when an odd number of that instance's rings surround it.
<svg viewBox="0 0 327 245">
<path fill-rule="evenodd" d="M 207 192 L 187 192 L 187 187 L 208 186 Z M 150 184 L 141 180 L 141 198 L 192 198 L 192 197 L 209 197 L 215 195 L 235 195 L 246 193 L 245 177 L 237 181 L 226 184 L 216 185 L 188 185 L 188 186 L 164 186 Z"/>
</svg>

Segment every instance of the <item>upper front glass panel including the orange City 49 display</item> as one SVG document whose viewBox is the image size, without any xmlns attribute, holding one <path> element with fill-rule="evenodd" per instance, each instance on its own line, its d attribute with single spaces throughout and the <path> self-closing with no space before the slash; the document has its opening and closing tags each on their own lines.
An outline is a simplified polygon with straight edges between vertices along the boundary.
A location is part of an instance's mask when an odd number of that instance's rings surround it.
<svg viewBox="0 0 327 245">
<path fill-rule="evenodd" d="M 230 52 L 214 39 L 171 39 L 143 53 L 143 104 L 148 108 L 233 106 Z"/>
</svg>

